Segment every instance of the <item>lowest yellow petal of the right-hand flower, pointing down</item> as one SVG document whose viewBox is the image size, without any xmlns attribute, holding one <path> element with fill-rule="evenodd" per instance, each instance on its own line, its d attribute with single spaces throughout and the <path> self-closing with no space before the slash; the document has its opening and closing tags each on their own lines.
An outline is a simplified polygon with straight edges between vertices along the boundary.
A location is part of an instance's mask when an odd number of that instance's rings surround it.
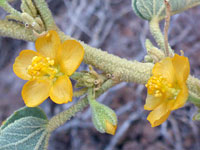
<svg viewBox="0 0 200 150">
<path fill-rule="evenodd" d="M 150 112 L 150 114 L 147 117 L 147 120 L 149 120 L 152 127 L 156 127 L 165 122 L 169 115 L 170 111 L 167 107 L 167 103 L 162 103 L 155 110 Z"/>
</svg>

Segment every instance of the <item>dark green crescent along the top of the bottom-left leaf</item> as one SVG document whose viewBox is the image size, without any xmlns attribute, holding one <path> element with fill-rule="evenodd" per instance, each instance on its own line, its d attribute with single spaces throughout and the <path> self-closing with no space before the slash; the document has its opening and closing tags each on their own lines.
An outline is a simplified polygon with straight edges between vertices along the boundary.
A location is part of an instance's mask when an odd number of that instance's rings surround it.
<svg viewBox="0 0 200 150">
<path fill-rule="evenodd" d="M 23 107 L 16 112 L 13 113 L 6 121 L 5 123 L 1 126 L 0 131 L 3 130 L 5 127 L 7 127 L 9 124 L 13 123 L 14 121 L 23 118 L 23 117 L 36 117 L 36 118 L 41 118 L 44 120 L 47 120 L 46 114 L 43 112 L 43 110 L 39 107 Z"/>
</svg>

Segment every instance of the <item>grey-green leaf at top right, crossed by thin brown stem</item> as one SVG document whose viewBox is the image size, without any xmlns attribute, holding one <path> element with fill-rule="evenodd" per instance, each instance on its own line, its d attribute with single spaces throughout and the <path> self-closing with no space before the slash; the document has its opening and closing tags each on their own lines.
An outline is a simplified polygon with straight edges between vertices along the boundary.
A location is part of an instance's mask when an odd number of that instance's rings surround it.
<svg viewBox="0 0 200 150">
<path fill-rule="evenodd" d="M 174 15 L 199 5 L 200 0 L 169 0 L 169 3 Z M 166 15 L 164 0 L 132 0 L 132 7 L 136 15 L 146 20 L 162 20 Z"/>
</svg>

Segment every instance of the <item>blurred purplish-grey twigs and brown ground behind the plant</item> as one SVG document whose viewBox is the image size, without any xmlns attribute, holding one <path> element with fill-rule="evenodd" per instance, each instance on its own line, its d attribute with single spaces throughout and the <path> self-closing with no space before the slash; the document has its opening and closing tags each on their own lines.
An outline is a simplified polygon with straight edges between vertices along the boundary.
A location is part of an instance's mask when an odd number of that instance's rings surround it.
<svg viewBox="0 0 200 150">
<path fill-rule="evenodd" d="M 131 0 L 47 0 L 57 25 L 66 34 L 91 46 L 129 60 L 143 61 L 144 42 L 152 39 L 148 22 L 138 18 Z M 12 5 L 19 8 L 20 1 Z M 5 12 L 0 9 L 0 19 Z M 163 23 L 161 24 L 163 27 Z M 200 77 L 200 7 L 172 17 L 169 41 L 177 53 L 189 57 L 191 74 Z M 153 41 L 153 39 L 152 39 Z M 153 41 L 154 42 L 154 41 Z M 155 43 L 155 42 L 154 42 Z M 21 89 L 25 81 L 17 78 L 12 65 L 23 49 L 34 44 L 0 37 L 0 122 L 24 106 Z M 79 70 L 87 70 L 82 64 Z M 91 122 L 90 109 L 57 129 L 49 150 L 200 150 L 200 123 L 192 121 L 194 105 L 174 111 L 161 126 L 151 128 L 143 110 L 146 89 L 135 83 L 120 83 L 98 100 L 115 110 L 118 129 L 114 136 L 99 133 Z M 72 103 L 56 105 L 47 100 L 41 105 L 49 118 Z"/>
</svg>

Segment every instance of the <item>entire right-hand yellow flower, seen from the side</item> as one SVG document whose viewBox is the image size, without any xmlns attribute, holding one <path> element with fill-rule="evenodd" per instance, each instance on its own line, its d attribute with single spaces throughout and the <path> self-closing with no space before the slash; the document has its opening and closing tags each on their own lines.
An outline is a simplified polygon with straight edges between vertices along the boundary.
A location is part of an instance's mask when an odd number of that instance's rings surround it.
<svg viewBox="0 0 200 150">
<path fill-rule="evenodd" d="M 188 98 L 186 80 L 190 72 L 187 57 L 175 54 L 164 58 L 153 67 L 153 76 L 146 84 L 148 94 L 145 110 L 152 110 L 147 117 L 152 127 L 167 120 L 170 112 L 182 107 Z"/>
</svg>

